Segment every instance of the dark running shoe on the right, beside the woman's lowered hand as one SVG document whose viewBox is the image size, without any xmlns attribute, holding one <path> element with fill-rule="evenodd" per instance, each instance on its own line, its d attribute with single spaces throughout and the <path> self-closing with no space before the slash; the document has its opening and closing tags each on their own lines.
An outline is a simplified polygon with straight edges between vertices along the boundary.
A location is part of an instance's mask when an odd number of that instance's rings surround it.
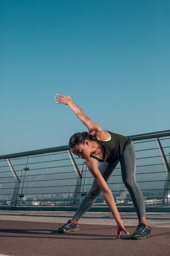
<svg viewBox="0 0 170 256">
<path fill-rule="evenodd" d="M 137 230 L 131 234 L 132 239 L 144 239 L 148 236 L 150 236 L 151 228 L 150 226 L 145 225 L 142 222 L 139 222 L 139 225 L 137 227 Z"/>
</svg>

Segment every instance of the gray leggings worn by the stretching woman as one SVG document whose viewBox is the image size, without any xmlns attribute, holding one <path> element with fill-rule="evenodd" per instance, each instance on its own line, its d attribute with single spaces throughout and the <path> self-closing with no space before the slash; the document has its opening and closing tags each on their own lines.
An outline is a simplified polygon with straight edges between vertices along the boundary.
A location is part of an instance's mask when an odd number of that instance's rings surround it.
<svg viewBox="0 0 170 256">
<path fill-rule="evenodd" d="M 136 157 L 135 148 L 132 142 L 128 146 L 126 146 L 124 153 L 121 155 L 117 162 L 99 163 L 99 171 L 102 173 L 102 176 L 104 177 L 104 180 L 106 180 L 106 182 L 110 178 L 111 174 L 113 173 L 115 167 L 119 162 L 121 164 L 122 179 L 130 193 L 133 205 L 137 212 L 137 216 L 138 218 L 146 217 L 144 198 L 135 179 Z M 84 197 L 74 217 L 79 220 L 84 215 L 84 213 L 86 213 L 86 211 L 90 210 L 91 207 L 93 207 L 95 200 L 101 193 L 102 191 L 94 179 L 90 191 Z"/>
</svg>

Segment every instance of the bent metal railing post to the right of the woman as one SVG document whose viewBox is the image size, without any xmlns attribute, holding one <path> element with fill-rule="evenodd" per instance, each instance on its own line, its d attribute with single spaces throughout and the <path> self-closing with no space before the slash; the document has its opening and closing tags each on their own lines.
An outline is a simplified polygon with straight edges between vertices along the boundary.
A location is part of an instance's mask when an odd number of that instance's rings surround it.
<svg viewBox="0 0 170 256">
<path fill-rule="evenodd" d="M 163 152 L 163 148 L 161 146 L 161 142 L 159 138 L 156 138 L 156 139 L 157 139 L 158 148 L 161 154 L 163 166 L 165 168 L 165 184 L 164 184 L 164 191 L 163 191 L 162 207 L 166 207 L 170 205 L 170 165 L 167 162 L 167 159 Z"/>
</svg>

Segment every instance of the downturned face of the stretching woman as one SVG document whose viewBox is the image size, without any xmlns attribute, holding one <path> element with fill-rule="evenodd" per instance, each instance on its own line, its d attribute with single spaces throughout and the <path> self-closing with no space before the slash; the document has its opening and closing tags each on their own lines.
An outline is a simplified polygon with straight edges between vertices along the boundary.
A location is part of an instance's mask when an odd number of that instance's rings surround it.
<svg viewBox="0 0 170 256">
<path fill-rule="evenodd" d="M 91 155 L 91 146 L 89 141 L 86 140 L 84 144 L 75 144 L 75 146 L 71 148 L 71 152 L 79 158 L 88 159 Z"/>
</svg>

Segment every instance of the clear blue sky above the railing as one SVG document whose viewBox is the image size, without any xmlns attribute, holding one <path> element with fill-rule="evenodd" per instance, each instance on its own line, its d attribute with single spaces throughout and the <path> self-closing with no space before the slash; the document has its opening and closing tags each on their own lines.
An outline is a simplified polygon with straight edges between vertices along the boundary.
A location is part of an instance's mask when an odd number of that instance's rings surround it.
<svg viewBox="0 0 170 256">
<path fill-rule="evenodd" d="M 0 0 L 0 155 L 170 129 L 169 0 Z"/>
</svg>

